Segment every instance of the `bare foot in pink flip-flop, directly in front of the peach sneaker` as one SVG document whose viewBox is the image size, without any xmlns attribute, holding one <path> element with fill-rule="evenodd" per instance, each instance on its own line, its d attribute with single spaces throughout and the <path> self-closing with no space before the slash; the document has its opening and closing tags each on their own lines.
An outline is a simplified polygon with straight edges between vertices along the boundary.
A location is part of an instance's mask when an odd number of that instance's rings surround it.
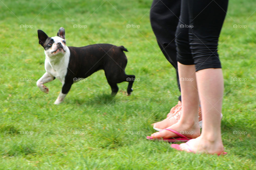
<svg viewBox="0 0 256 170">
<path fill-rule="evenodd" d="M 186 136 L 187 138 L 197 138 L 200 136 L 200 127 L 199 123 L 195 123 L 194 125 L 186 125 L 186 124 L 181 124 L 180 122 L 175 123 L 174 125 L 171 125 L 168 127 L 168 129 L 173 129 L 180 134 Z M 169 130 L 163 130 L 160 132 L 156 132 L 151 134 L 152 138 L 165 138 L 165 139 L 170 139 L 170 138 L 176 138 L 178 135 L 175 133 L 169 131 Z"/>
</svg>

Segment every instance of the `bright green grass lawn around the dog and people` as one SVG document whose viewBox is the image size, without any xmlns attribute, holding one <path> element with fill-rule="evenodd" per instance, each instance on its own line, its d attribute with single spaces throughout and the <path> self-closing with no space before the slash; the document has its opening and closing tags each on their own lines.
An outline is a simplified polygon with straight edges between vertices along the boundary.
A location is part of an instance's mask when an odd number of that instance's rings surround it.
<svg viewBox="0 0 256 170">
<path fill-rule="evenodd" d="M 256 169 L 254 0 L 230 0 L 221 32 L 222 138 L 228 155 L 219 157 L 145 139 L 154 132 L 150 124 L 165 118 L 180 95 L 175 70 L 151 30 L 150 6 L 151 0 L 0 1 L 0 169 Z M 140 80 L 133 94 L 126 96 L 123 82 L 111 97 L 98 71 L 74 84 L 62 104 L 53 105 L 61 83 L 48 83 L 49 94 L 36 86 L 45 72 L 37 29 L 55 36 L 61 26 L 70 46 L 125 46 L 126 72 Z"/>
</svg>

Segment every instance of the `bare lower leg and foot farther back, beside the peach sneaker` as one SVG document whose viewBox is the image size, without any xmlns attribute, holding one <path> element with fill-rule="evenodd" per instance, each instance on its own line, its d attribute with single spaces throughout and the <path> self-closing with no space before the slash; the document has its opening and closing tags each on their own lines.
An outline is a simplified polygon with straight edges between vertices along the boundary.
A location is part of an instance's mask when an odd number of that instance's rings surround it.
<svg viewBox="0 0 256 170">
<path fill-rule="evenodd" d="M 199 97 L 195 76 L 195 65 L 183 65 L 178 62 L 179 81 L 181 85 L 182 114 L 180 120 L 168 127 L 179 133 L 183 132 L 188 138 L 200 135 L 198 123 Z M 175 138 L 176 134 L 168 130 L 151 134 L 153 138 Z"/>
</svg>

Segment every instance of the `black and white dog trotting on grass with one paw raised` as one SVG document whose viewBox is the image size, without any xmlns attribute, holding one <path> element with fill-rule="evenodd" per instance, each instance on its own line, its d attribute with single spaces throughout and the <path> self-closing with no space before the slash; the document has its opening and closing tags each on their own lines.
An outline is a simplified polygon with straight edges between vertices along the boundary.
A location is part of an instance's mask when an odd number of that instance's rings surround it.
<svg viewBox="0 0 256 170">
<path fill-rule="evenodd" d="M 82 80 L 103 69 L 107 82 L 112 89 L 112 95 L 118 92 L 117 83 L 129 82 L 127 93 L 133 91 L 132 85 L 134 75 L 126 75 L 125 67 L 127 58 L 123 46 L 111 44 L 93 44 L 85 47 L 67 47 L 65 30 L 61 27 L 57 36 L 48 37 L 45 32 L 38 30 L 39 44 L 45 49 L 45 70 L 46 73 L 37 81 L 38 88 L 49 93 L 44 85 L 55 78 L 62 83 L 62 90 L 54 104 L 61 103 L 69 92 L 74 82 Z"/>
</svg>

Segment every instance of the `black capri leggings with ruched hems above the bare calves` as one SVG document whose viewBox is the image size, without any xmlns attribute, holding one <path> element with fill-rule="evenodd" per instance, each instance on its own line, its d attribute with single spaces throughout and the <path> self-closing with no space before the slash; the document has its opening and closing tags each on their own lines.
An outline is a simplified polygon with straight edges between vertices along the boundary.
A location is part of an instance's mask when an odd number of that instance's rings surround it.
<svg viewBox="0 0 256 170">
<path fill-rule="evenodd" d="M 176 30 L 177 61 L 196 71 L 221 68 L 217 52 L 228 0 L 182 0 Z"/>
</svg>

